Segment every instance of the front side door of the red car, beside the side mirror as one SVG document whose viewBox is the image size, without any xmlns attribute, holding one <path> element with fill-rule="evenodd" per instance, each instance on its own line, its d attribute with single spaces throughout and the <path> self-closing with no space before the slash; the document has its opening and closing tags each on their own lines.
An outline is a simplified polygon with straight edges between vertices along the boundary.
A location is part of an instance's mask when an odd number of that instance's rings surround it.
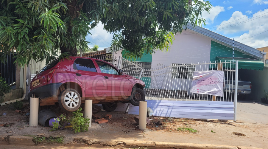
<svg viewBox="0 0 268 149">
<path fill-rule="evenodd" d="M 109 63 L 96 60 L 102 76 L 104 88 L 102 94 L 107 96 L 127 97 L 129 80 L 126 75 L 119 75 L 118 69 Z"/>
</svg>

